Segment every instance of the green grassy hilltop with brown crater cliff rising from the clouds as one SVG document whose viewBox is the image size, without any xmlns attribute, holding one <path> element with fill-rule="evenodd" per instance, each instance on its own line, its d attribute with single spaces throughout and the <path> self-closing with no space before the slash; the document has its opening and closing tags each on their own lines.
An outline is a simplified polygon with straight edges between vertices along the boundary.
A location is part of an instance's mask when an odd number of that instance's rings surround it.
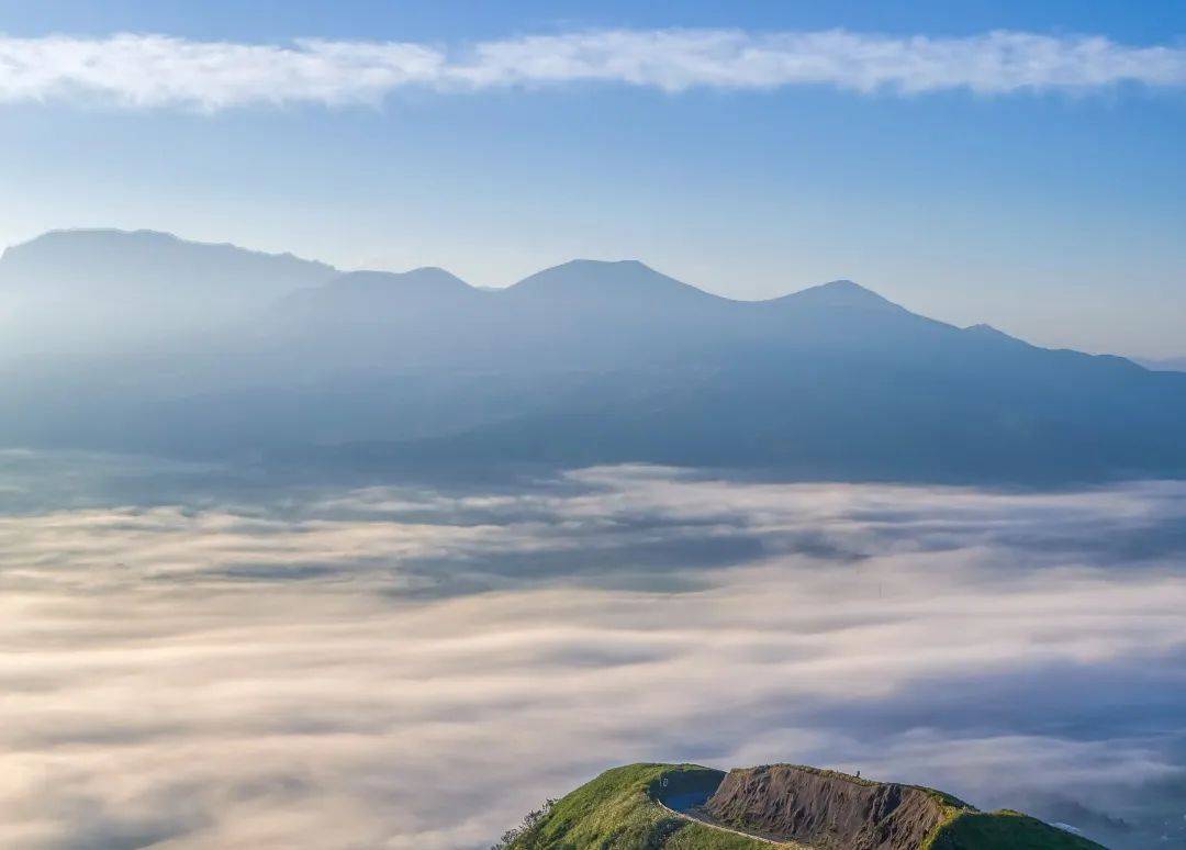
<svg viewBox="0 0 1186 850">
<path fill-rule="evenodd" d="M 748 835 L 746 835 L 748 833 Z M 514 850 L 772 845 L 817 850 L 1090 850 L 1101 845 L 950 794 L 793 765 L 606 771 L 510 835 Z"/>
</svg>

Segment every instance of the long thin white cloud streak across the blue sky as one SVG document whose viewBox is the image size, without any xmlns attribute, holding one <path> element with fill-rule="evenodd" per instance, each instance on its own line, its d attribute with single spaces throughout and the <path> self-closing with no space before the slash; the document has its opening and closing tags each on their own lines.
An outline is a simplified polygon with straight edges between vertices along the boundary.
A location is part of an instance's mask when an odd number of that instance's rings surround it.
<svg viewBox="0 0 1186 850">
<path fill-rule="evenodd" d="M 0 102 L 88 101 L 218 110 L 377 103 L 407 87 L 617 83 L 918 94 L 1186 85 L 1186 49 L 1101 36 L 997 31 L 961 38 L 843 30 L 600 30 L 451 46 L 407 41 L 193 41 L 160 34 L 0 37 Z"/>
</svg>

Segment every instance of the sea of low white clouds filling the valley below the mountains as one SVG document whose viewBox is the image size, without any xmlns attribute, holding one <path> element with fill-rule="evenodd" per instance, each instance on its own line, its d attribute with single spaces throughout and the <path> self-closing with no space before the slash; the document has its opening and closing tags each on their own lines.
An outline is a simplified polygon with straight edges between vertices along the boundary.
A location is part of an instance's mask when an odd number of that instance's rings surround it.
<svg viewBox="0 0 1186 850">
<path fill-rule="evenodd" d="M 652 759 L 1182 838 L 1186 485 L 617 467 L 33 510 L 23 480 L 0 845 L 477 848 Z"/>
</svg>

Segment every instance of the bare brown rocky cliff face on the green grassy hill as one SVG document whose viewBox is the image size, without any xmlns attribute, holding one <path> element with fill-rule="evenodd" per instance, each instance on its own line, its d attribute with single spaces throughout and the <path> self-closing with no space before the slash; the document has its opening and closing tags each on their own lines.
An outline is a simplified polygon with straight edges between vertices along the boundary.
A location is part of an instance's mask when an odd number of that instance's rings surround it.
<svg viewBox="0 0 1186 850">
<path fill-rule="evenodd" d="M 944 801 L 908 785 L 769 765 L 731 771 L 704 811 L 721 823 L 815 848 L 916 850 L 943 820 Z"/>
</svg>

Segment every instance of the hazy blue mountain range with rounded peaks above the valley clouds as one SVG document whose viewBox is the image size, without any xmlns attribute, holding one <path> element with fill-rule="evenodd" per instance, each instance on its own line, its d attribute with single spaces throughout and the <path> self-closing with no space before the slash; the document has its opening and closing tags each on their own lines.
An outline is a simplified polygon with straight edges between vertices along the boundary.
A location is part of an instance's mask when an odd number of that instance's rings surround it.
<svg viewBox="0 0 1186 850">
<path fill-rule="evenodd" d="M 1186 375 L 852 281 L 720 298 L 578 260 L 506 289 L 155 232 L 0 258 L 0 443 L 402 472 L 621 461 L 835 480 L 1186 474 Z"/>
</svg>

